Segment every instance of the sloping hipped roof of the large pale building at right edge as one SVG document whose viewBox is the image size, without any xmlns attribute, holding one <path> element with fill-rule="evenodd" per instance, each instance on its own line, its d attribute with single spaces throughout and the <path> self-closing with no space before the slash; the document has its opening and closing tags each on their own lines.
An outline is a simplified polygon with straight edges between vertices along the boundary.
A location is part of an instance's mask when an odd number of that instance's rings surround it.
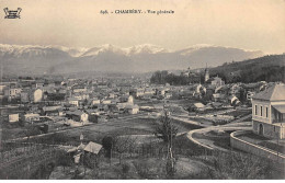
<svg viewBox="0 0 285 183">
<path fill-rule="evenodd" d="M 252 96 L 253 100 L 285 101 L 285 84 L 275 84 Z"/>
</svg>

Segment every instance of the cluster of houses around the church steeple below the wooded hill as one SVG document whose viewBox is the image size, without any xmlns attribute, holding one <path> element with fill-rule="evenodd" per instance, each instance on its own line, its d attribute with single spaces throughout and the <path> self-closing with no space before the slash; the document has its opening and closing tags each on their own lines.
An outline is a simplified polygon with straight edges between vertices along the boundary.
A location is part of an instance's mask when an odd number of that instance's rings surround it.
<svg viewBox="0 0 285 183">
<path fill-rule="evenodd" d="M 259 81 L 254 83 L 225 83 L 219 76 L 210 77 L 206 68 L 205 72 L 196 73 L 190 68 L 181 72 L 181 76 L 187 77 L 189 81 L 198 80 L 189 87 L 184 87 L 184 91 L 189 91 L 192 99 L 196 99 L 196 103 L 190 105 L 190 111 L 203 112 L 213 108 L 232 107 L 238 105 L 251 106 L 252 96 L 266 88 L 274 85 L 274 82 Z M 193 80 L 191 80 L 193 78 Z M 203 82 L 202 82 L 203 80 Z M 183 89 L 181 90 L 183 91 Z M 168 92 L 173 95 L 173 90 Z M 200 102 L 198 102 L 200 101 Z"/>
</svg>

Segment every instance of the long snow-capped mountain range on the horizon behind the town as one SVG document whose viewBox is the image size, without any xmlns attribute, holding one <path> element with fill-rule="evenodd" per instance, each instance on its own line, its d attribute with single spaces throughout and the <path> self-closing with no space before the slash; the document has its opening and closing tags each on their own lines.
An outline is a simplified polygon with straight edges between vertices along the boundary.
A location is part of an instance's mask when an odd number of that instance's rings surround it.
<svg viewBox="0 0 285 183">
<path fill-rule="evenodd" d="M 195 45 L 179 50 L 145 44 L 128 48 L 103 45 L 92 48 L 0 44 L 4 73 L 73 73 L 82 71 L 148 72 L 155 70 L 216 67 L 256 58 L 260 50 Z"/>
</svg>

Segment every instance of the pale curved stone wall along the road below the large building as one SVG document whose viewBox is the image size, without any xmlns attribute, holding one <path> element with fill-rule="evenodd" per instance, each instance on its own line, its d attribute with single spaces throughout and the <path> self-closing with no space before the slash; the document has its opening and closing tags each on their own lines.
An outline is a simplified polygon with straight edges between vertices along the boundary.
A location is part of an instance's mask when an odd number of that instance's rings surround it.
<svg viewBox="0 0 285 183">
<path fill-rule="evenodd" d="M 256 155 L 259 157 L 269 158 L 273 161 L 278 161 L 281 163 L 285 163 L 285 155 L 278 153 L 276 151 L 270 150 L 267 148 L 250 144 L 238 138 L 238 135 L 247 134 L 248 131 L 238 130 L 230 134 L 230 146 L 236 149 L 240 149 L 246 152 L 250 152 L 252 155 Z"/>
</svg>

